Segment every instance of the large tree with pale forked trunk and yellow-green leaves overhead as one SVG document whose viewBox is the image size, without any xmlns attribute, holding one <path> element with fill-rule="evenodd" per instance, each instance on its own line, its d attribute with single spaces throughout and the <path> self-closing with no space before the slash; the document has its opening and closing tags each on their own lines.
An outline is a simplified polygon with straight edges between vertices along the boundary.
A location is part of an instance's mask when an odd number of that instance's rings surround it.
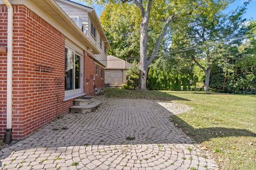
<svg viewBox="0 0 256 170">
<path fill-rule="evenodd" d="M 93 1 L 93 0 L 91 0 Z M 147 74 L 149 65 L 155 60 L 158 55 L 161 41 L 166 35 L 172 22 L 178 22 L 183 17 L 204 13 L 211 18 L 212 13 L 218 11 L 222 5 L 225 5 L 228 0 L 99 0 L 98 3 L 130 3 L 136 5 L 140 10 L 140 74 L 139 74 L 139 89 L 146 90 Z M 229 1 L 228 1 L 229 2 Z M 207 10 L 208 9 L 208 10 Z M 211 9 L 211 10 L 209 10 Z M 161 11 L 158 15 L 151 15 L 151 11 Z M 148 32 L 149 23 L 155 27 L 161 28 L 157 33 L 153 52 L 148 49 Z"/>
</svg>

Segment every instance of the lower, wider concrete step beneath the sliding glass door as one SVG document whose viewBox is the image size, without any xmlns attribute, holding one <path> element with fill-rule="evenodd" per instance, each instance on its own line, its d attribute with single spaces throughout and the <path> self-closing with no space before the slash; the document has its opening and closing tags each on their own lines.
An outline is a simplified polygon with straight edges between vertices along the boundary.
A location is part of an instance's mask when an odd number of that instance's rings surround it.
<svg viewBox="0 0 256 170">
<path fill-rule="evenodd" d="M 84 106 L 71 106 L 70 113 L 88 113 L 92 112 L 92 110 L 98 107 L 101 104 L 100 100 L 92 100 L 90 104 Z"/>
</svg>

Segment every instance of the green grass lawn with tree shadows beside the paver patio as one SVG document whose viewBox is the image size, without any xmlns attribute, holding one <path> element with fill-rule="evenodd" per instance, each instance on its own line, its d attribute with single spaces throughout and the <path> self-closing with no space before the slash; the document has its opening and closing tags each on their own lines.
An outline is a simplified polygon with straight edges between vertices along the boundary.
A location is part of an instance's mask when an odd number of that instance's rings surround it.
<svg viewBox="0 0 256 170">
<path fill-rule="evenodd" d="M 256 169 L 256 95 L 106 89 L 107 97 L 172 100 L 194 107 L 170 120 L 206 146 L 222 169 Z"/>
</svg>

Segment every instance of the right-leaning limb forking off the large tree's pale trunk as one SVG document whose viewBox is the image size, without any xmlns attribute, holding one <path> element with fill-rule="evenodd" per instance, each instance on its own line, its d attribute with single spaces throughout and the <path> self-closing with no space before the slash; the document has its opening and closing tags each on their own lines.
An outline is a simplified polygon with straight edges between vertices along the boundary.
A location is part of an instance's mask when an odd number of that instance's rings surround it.
<svg viewBox="0 0 256 170">
<path fill-rule="evenodd" d="M 173 19 L 174 19 L 174 13 L 171 16 L 169 16 L 169 18 L 167 18 L 167 20 L 165 21 L 164 27 L 163 27 L 159 37 L 157 38 L 154 52 L 152 53 L 151 57 L 149 57 L 149 59 L 147 61 L 147 66 L 149 66 L 151 64 L 151 62 L 153 62 L 153 60 L 155 59 L 156 54 L 158 53 L 158 49 L 161 44 L 161 41 L 164 38 L 167 28 L 168 28 L 169 24 L 173 21 Z"/>
</svg>

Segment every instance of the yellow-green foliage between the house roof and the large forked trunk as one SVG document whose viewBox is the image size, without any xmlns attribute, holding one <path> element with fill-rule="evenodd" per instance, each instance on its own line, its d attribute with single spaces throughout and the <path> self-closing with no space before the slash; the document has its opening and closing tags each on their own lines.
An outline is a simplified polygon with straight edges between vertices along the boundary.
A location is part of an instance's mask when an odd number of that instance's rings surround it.
<svg viewBox="0 0 256 170">
<path fill-rule="evenodd" d="M 100 22 L 111 40 L 109 55 L 122 59 L 139 56 L 140 11 L 135 5 L 107 4 Z"/>
</svg>

